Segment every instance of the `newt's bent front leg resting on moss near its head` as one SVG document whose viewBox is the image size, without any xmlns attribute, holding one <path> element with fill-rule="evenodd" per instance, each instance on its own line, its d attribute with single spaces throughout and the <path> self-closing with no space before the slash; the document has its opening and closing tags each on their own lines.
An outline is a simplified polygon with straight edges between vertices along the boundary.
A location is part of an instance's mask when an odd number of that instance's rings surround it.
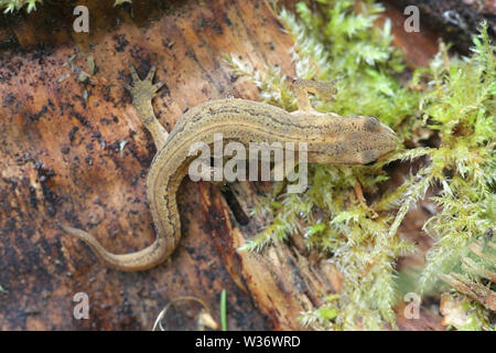
<svg viewBox="0 0 496 353">
<path fill-rule="evenodd" d="M 334 84 L 337 79 L 332 82 L 320 82 L 311 79 L 296 78 L 291 84 L 291 89 L 296 95 L 298 109 L 300 111 L 314 111 L 310 105 L 309 93 L 314 93 L 321 98 L 332 100 L 337 89 Z"/>
</svg>

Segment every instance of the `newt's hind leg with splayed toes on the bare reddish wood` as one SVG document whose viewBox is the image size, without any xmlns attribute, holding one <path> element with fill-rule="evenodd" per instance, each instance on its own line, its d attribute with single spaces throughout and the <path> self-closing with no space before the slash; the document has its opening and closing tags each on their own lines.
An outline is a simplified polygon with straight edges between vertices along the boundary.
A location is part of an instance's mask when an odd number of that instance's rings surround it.
<svg viewBox="0 0 496 353">
<path fill-rule="evenodd" d="M 136 110 L 138 110 L 138 116 L 144 127 L 150 131 L 153 141 L 155 142 L 157 150 L 159 151 L 165 145 L 169 132 L 162 124 L 160 124 L 159 119 L 157 119 L 151 100 L 164 83 L 159 82 L 153 84 L 157 64 L 152 65 L 144 79 L 140 79 L 132 65 L 129 65 L 129 71 L 131 72 L 132 86 L 126 85 L 126 88 L 131 93 L 132 104 L 134 105 Z"/>
</svg>

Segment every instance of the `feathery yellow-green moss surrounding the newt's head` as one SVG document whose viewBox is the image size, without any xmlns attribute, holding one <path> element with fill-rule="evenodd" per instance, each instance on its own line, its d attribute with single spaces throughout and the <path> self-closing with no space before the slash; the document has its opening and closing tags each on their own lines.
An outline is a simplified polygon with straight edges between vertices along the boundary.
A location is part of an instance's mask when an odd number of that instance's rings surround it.
<svg viewBox="0 0 496 353">
<path fill-rule="evenodd" d="M 495 100 L 494 47 L 487 28 L 474 39 L 473 55 L 450 58 L 443 49 L 431 65 L 418 69 L 409 85 L 399 74 L 402 60 L 391 46 L 390 23 L 374 26 L 382 8 L 374 1 L 320 0 L 317 11 L 296 6 L 298 18 L 287 10 L 280 19 L 294 38 L 293 58 L 302 78 L 338 82 L 336 101 L 313 105 L 321 111 L 375 116 L 398 135 L 400 148 L 371 167 L 311 165 L 309 189 L 302 194 L 280 194 L 266 207 L 273 223 L 246 248 L 261 249 L 303 229 L 309 248 L 327 254 L 343 276 L 343 289 L 304 323 L 320 329 L 353 330 L 396 327 L 395 260 L 414 249 L 397 231 L 410 205 L 439 185 L 432 197 L 441 211 L 424 228 L 436 240 L 429 252 L 417 291 L 429 290 L 460 259 L 470 242 L 494 227 L 495 205 Z M 252 78 L 262 97 L 288 110 L 295 99 L 280 71 L 260 74 L 228 58 L 231 67 Z M 409 89 L 408 87 L 416 87 Z M 420 87 L 420 89 L 419 89 Z M 418 129 L 436 133 L 438 148 L 405 149 Z M 367 205 L 368 194 L 388 179 L 382 167 L 392 161 L 424 157 L 420 170 L 400 188 Z M 274 192 L 274 196 L 277 192 Z M 319 212 L 315 212 L 319 210 Z"/>
</svg>

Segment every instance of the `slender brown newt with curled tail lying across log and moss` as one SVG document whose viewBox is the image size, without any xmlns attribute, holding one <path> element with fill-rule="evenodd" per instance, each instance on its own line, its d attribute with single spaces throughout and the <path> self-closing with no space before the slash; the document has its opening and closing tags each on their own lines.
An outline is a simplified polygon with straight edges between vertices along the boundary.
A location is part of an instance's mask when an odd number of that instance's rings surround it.
<svg viewBox="0 0 496 353">
<path fill-rule="evenodd" d="M 292 88 L 300 110 L 288 113 L 263 103 L 219 99 L 201 104 L 185 113 L 171 133 L 155 118 L 151 105 L 162 83 L 152 84 L 155 66 L 140 81 L 131 66 L 134 85 L 129 86 L 143 125 L 150 130 L 158 152 L 148 175 L 148 199 L 157 239 L 149 247 L 126 255 L 107 252 L 90 234 L 66 225 L 62 227 L 84 240 L 109 267 L 126 271 L 143 270 L 164 261 L 181 237 L 175 193 L 195 157 L 188 156 L 194 142 L 214 142 L 214 133 L 225 140 L 249 142 L 306 142 L 308 161 L 320 164 L 367 164 L 393 151 L 395 132 L 373 117 L 341 117 L 320 114 L 310 106 L 308 92 L 331 98 L 332 83 L 296 79 Z"/>
</svg>

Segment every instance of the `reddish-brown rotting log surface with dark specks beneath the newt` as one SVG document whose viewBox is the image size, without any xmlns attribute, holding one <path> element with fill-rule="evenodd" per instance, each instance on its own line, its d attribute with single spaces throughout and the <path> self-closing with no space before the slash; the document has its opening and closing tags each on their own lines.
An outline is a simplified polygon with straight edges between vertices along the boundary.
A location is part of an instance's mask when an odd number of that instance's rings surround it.
<svg viewBox="0 0 496 353">
<path fill-rule="evenodd" d="M 338 290 L 341 278 L 298 236 L 262 254 L 236 252 L 267 223 L 247 217 L 267 184 L 235 183 L 223 195 L 215 185 L 185 180 L 179 192 L 180 246 L 148 271 L 106 269 L 57 227 L 64 222 L 87 229 L 115 253 L 154 239 L 145 178 L 155 150 L 123 89 L 127 63 L 141 75 L 159 63 L 157 76 L 166 86 L 153 106 L 168 130 L 185 109 L 209 98 L 259 100 L 220 54 L 294 75 L 291 39 L 269 6 L 78 4 L 90 10 L 89 34 L 72 30 L 73 7 L 63 4 L 0 23 L 0 330 L 148 330 L 169 301 L 184 296 L 202 299 L 218 321 L 223 288 L 229 329 L 302 329 L 301 311 Z M 398 20 L 396 43 L 403 46 L 401 14 L 388 15 Z M 412 55 L 406 51 L 412 65 L 435 50 L 430 34 L 416 35 L 429 45 Z M 72 68 L 87 71 L 89 55 L 96 69 L 82 82 Z M 88 293 L 89 320 L 73 317 L 77 292 Z M 198 310 L 177 306 L 168 328 L 196 328 Z M 440 328 L 431 313 L 401 322 L 402 329 Z"/>
</svg>

